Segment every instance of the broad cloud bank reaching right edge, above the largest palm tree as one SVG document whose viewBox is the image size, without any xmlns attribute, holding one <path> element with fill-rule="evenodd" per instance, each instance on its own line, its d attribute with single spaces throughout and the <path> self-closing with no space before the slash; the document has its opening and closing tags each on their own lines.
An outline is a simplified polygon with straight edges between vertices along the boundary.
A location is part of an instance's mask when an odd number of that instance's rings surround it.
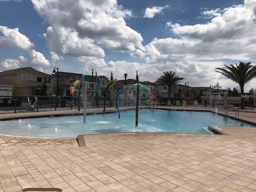
<svg viewBox="0 0 256 192">
<path fill-rule="evenodd" d="M 206 10 L 202 15 L 211 18 L 210 22 L 184 26 L 167 22 L 166 28 L 178 38 L 154 38 L 145 46 L 146 65 L 159 71 L 176 71 L 191 85 L 197 85 L 202 78 L 204 84 L 215 80 L 225 85 L 226 78 L 214 72 L 216 67 L 229 65 L 221 60 L 255 60 L 255 0 L 223 10 Z"/>
</svg>

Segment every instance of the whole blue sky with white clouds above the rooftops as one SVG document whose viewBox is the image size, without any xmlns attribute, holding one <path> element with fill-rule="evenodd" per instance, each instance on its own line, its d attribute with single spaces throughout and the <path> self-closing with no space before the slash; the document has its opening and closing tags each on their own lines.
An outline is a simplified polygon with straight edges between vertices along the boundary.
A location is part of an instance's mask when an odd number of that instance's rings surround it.
<svg viewBox="0 0 256 192">
<path fill-rule="evenodd" d="M 0 0 L 0 71 L 54 67 L 189 86 L 238 86 L 214 72 L 256 63 L 256 0 Z M 256 88 L 256 80 L 245 91 Z"/>
</svg>

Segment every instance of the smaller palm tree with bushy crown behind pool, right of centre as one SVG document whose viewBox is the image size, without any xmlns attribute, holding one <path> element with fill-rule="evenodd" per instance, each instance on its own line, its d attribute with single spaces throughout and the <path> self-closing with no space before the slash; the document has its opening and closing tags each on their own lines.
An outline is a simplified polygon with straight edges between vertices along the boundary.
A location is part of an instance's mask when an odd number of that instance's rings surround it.
<svg viewBox="0 0 256 192">
<path fill-rule="evenodd" d="M 168 100 L 171 100 L 171 87 L 184 80 L 184 78 L 177 76 L 176 72 L 172 71 L 163 73 L 164 74 L 160 78 L 157 78 L 156 84 L 168 86 Z"/>
</svg>

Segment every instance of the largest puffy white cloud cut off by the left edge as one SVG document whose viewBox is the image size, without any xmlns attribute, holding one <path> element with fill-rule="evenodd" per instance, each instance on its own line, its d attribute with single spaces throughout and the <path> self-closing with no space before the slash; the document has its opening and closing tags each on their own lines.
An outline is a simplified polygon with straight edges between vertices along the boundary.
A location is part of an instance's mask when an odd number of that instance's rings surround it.
<svg viewBox="0 0 256 192">
<path fill-rule="evenodd" d="M 10 29 L 6 26 L 0 26 L 0 47 L 18 47 L 24 50 L 31 50 L 34 44 L 30 42 L 29 38 L 19 32 L 18 28 Z"/>
</svg>

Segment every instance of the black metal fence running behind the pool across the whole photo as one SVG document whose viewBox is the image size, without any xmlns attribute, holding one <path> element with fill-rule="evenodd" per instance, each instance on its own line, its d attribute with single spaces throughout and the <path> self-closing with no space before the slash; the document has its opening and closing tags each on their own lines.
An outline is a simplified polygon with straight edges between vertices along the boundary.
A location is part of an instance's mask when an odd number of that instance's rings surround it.
<svg viewBox="0 0 256 192">
<path fill-rule="evenodd" d="M 183 98 L 175 98 L 183 105 Z M 115 97 L 106 97 L 104 102 L 103 96 L 87 96 L 87 108 L 102 108 L 116 106 Z M 188 106 L 194 106 L 194 100 L 187 100 Z M 3 113 L 18 113 L 18 112 L 38 112 L 38 111 L 53 111 L 84 108 L 84 98 L 78 96 L 0 96 L 0 114 Z M 140 105 L 148 105 L 148 100 L 141 100 Z M 167 98 L 158 98 L 154 104 L 159 106 L 167 105 Z M 134 100 L 131 98 L 118 98 L 119 106 L 133 106 Z M 241 106 L 241 101 L 228 100 L 228 105 Z M 224 100 L 202 100 L 197 106 L 224 108 Z M 245 100 L 245 108 L 253 108 L 253 100 Z"/>
</svg>

